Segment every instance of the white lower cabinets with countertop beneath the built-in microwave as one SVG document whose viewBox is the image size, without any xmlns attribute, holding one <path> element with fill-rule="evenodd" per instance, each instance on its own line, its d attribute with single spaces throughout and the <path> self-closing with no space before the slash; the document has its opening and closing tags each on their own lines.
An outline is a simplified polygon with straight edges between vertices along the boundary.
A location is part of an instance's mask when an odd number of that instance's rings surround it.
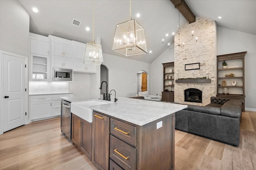
<svg viewBox="0 0 256 170">
<path fill-rule="evenodd" d="M 47 119 L 60 116 L 62 96 L 72 96 L 70 93 L 62 93 L 57 95 L 30 95 L 30 120 Z"/>
</svg>

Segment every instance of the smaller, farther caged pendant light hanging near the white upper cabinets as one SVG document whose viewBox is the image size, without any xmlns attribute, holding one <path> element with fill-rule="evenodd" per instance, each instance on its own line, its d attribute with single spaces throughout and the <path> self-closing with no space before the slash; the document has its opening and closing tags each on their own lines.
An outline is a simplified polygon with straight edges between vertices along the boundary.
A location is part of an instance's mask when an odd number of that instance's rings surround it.
<svg viewBox="0 0 256 170">
<path fill-rule="evenodd" d="M 92 42 L 86 43 L 84 63 L 101 65 L 103 63 L 101 45 L 94 41 L 94 1 L 92 13 Z"/>
</svg>

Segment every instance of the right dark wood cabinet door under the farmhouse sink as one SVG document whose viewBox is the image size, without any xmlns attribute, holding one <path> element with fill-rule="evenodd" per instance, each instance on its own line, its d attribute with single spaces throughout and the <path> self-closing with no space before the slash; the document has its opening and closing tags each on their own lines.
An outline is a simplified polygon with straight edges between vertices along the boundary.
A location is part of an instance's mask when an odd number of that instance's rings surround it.
<svg viewBox="0 0 256 170">
<path fill-rule="evenodd" d="M 82 131 L 81 131 L 81 142 L 80 150 L 92 160 L 92 123 L 81 119 Z"/>
</svg>

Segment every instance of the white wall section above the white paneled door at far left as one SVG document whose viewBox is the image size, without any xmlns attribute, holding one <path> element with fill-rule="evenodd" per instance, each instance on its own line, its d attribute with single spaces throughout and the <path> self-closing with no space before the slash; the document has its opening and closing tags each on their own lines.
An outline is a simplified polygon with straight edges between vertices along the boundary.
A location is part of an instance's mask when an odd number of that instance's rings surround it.
<svg viewBox="0 0 256 170">
<path fill-rule="evenodd" d="M 18 0 L 0 0 L 0 49 L 29 56 L 29 14 Z"/>
</svg>

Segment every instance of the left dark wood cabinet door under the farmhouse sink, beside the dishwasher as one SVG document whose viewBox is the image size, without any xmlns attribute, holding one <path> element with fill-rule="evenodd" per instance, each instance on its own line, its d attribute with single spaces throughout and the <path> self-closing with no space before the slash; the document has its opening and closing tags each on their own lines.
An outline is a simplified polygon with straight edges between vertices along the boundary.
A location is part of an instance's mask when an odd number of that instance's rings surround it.
<svg viewBox="0 0 256 170">
<path fill-rule="evenodd" d="M 72 142 L 80 148 L 80 134 L 81 134 L 80 117 L 72 114 Z"/>
</svg>

